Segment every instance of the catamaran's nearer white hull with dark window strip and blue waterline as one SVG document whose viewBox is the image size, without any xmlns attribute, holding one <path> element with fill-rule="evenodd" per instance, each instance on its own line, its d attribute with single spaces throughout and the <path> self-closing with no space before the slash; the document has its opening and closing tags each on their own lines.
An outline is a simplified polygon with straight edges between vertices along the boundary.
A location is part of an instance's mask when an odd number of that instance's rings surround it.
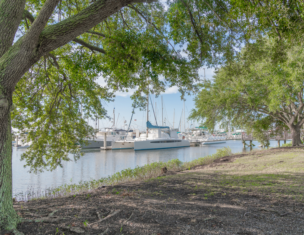
<svg viewBox="0 0 304 235">
<path fill-rule="evenodd" d="M 134 150 L 181 148 L 189 146 L 190 143 L 188 140 L 179 139 L 143 140 L 134 142 Z"/>
</svg>

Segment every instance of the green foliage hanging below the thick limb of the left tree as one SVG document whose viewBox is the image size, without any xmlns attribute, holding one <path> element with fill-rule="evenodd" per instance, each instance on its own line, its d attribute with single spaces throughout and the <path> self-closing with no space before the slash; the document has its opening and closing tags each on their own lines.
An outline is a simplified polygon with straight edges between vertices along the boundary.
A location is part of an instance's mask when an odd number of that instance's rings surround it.
<svg viewBox="0 0 304 235">
<path fill-rule="evenodd" d="M 47 26 L 60 24 L 91 3 L 60 1 Z M 42 4 L 26 2 L 33 16 L 22 19 L 17 37 L 26 35 Z M 77 161 L 81 153 L 76 143 L 98 132 L 87 120 L 109 118 L 105 105 L 117 91 L 136 88 L 131 98 L 140 108 L 145 107 L 146 94 L 159 95 L 166 86 L 178 86 L 182 98 L 195 91 L 199 64 L 171 45 L 166 14 L 159 2 L 130 4 L 46 53 L 22 76 L 13 94 L 11 118 L 13 128 L 27 133 L 25 142 L 33 142 L 21 157 L 29 171 L 54 170 L 62 161 Z M 46 149 L 47 144 L 52 146 Z"/>
</svg>

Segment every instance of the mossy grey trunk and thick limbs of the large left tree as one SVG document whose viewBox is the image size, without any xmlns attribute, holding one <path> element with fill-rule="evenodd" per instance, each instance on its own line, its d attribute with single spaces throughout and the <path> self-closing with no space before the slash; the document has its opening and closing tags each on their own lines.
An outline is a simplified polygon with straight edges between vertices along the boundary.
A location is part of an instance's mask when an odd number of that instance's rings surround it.
<svg viewBox="0 0 304 235">
<path fill-rule="evenodd" d="M 47 26 L 59 0 L 47 0 L 30 29 L 13 43 L 26 15 L 25 0 L 0 1 L 0 228 L 14 229 L 19 218 L 12 205 L 12 94 L 22 75 L 44 54 L 92 29 L 130 3 L 142 0 L 97 0 L 78 14 Z M 156 0 L 148 0 L 156 2 Z"/>
</svg>

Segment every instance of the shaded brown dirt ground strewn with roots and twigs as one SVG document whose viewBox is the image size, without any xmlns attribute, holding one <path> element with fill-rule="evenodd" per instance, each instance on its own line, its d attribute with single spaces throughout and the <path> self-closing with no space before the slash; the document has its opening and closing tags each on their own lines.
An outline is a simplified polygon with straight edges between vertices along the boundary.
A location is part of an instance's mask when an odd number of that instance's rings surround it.
<svg viewBox="0 0 304 235">
<path fill-rule="evenodd" d="M 17 202 L 14 208 L 21 217 L 48 217 L 43 220 L 50 222 L 23 222 L 18 230 L 52 235 L 304 234 L 302 199 L 292 196 L 303 193 L 302 185 L 288 184 L 292 177 L 302 178 L 303 173 L 285 176 L 286 181 L 277 183 L 284 191 L 299 190 L 294 194 L 273 191 L 268 181 L 257 186 L 254 182 L 245 191 L 230 180 L 220 181 L 218 176 L 223 173 L 215 168 L 244 156 L 224 157 L 190 171 L 167 172 L 147 181 L 98 188 L 67 198 Z M 213 173 L 204 173 L 207 168 L 214 168 Z M 264 191 L 254 188 L 260 186 Z"/>
</svg>

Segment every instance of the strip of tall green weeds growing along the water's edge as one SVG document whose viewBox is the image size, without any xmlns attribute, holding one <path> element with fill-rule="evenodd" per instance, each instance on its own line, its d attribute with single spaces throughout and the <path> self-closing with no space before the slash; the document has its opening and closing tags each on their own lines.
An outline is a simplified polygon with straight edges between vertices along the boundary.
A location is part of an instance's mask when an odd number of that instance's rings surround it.
<svg viewBox="0 0 304 235">
<path fill-rule="evenodd" d="M 183 171 L 189 170 L 196 165 L 211 164 L 214 160 L 233 155 L 229 147 L 218 149 L 215 154 L 206 157 L 200 157 L 193 161 L 182 162 L 178 159 L 172 159 L 168 162 L 153 162 L 144 166 L 137 166 L 135 169 L 125 169 L 117 172 L 114 175 L 101 178 L 98 180 L 80 181 L 78 184 L 64 184 L 59 187 L 50 188 L 28 188 L 26 192 L 15 193 L 16 201 L 28 201 L 36 199 L 54 199 L 76 195 L 81 192 L 89 192 L 96 188 L 109 185 L 118 185 L 124 182 L 141 181 L 154 178 L 161 174 L 161 168 L 166 167 L 168 171 Z"/>
</svg>

